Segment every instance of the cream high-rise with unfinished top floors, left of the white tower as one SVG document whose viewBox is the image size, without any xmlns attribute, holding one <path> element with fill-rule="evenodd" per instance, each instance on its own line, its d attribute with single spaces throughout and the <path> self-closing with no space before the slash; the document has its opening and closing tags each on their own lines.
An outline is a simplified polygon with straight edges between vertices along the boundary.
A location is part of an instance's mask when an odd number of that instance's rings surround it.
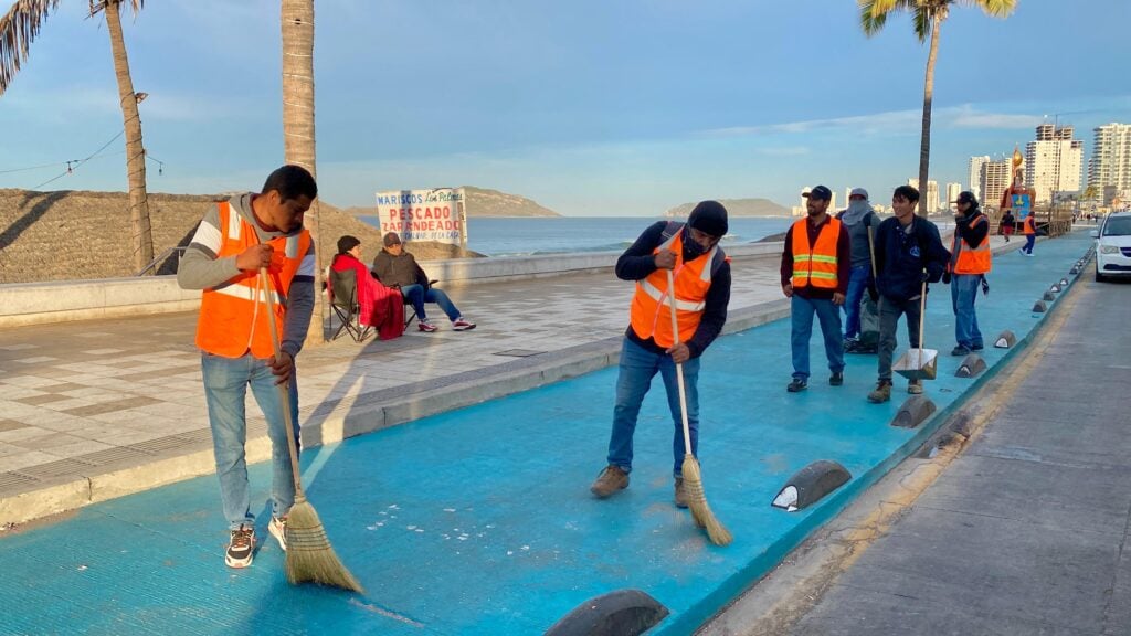
<svg viewBox="0 0 1131 636">
<path fill-rule="evenodd" d="M 1083 141 L 1072 138 L 1072 127 L 1042 123 L 1037 138 L 1025 145 L 1026 184 L 1036 203 L 1048 203 L 1053 192 L 1079 192 L 1083 182 Z"/>
</svg>

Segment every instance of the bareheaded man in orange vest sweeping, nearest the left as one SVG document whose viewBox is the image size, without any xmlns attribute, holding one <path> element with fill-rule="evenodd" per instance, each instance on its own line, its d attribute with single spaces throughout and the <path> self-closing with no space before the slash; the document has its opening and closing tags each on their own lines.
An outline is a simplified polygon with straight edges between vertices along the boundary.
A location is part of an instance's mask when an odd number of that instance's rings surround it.
<svg viewBox="0 0 1131 636">
<path fill-rule="evenodd" d="M 318 186 L 309 172 L 284 165 L 267 178 L 261 192 L 234 196 L 206 214 L 178 267 L 181 287 L 204 291 L 197 346 L 221 501 L 231 531 L 224 562 L 233 568 L 250 566 L 256 553 L 244 453 L 249 386 L 271 440 L 267 530 L 286 550 L 286 515 L 295 492 L 286 436 L 297 442 L 299 427 L 295 422 L 293 430 L 286 430 L 283 392 L 276 385 L 286 384 L 291 412 L 297 413 L 294 359 L 314 308 L 314 244 L 302 218 L 317 196 Z M 268 269 L 268 289 L 260 284 L 260 268 Z M 267 294 L 276 298 L 271 316 L 264 300 Z M 268 320 L 275 321 L 282 337 L 278 358 Z"/>
</svg>

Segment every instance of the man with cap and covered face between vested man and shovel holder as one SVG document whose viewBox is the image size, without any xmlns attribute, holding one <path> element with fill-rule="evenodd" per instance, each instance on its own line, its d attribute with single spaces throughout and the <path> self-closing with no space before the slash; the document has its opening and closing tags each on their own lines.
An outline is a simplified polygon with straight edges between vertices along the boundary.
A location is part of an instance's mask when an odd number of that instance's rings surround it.
<svg viewBox="0 0 1131 636">
<path fill-rule="evenodd" d="M 867 190 L 853 188 L 848 194 L 848 207 L 837 213 L 837 220 L 848 232 L 852 247 L 852 269 L 845 294 L 845 353 L 874 352 L 874 340 L 862 342 L 861 313 L 864 308 L 865 290 L 875 285 L 872 277 L 872 233 L 880 225 L 880 217 L 867 200 Z M 869 299 L 871 300 L 871 299 Z M 874 303 L 872 306 L 874 308 Z M 869 338 L 865 338 L 867 341 Z"/>
</svg>

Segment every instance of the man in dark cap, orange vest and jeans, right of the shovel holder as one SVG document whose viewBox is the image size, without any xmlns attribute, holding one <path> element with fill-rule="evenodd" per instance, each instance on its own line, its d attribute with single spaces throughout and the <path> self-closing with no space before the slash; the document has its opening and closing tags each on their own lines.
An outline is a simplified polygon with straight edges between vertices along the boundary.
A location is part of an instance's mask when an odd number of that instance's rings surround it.
<svg viewBox="0 0 1131 636">
<path fill-rule="evenodd" d="M 978 287 L 984 286 L 990 273 L 990 222 L 978 209 L 978 200 L 973 192 L 958 195 L 958 213 L 955 214 L 955 239 L 950 248 L 950 260 L 943 282 L 950 283 L 950 296 L 955 309 L 955 340 L 957 346 L 951 355 L 966 355 L 981 351 L 982 332 L 974 301 Z"/>
</svg>

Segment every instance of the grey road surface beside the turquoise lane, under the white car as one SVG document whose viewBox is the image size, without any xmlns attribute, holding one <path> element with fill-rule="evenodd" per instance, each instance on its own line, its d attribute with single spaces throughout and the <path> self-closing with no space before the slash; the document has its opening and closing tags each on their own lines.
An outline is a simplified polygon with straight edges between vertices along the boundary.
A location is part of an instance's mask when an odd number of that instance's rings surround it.
<svg viewBox="0 0 1131 636">
<path fill-rule="evenodd" d="M 1089 265 L 1064 300 L 968 440 L 908 459 L 701 633 L 1131 634 L 1131 283 Z"/>
</svg>

